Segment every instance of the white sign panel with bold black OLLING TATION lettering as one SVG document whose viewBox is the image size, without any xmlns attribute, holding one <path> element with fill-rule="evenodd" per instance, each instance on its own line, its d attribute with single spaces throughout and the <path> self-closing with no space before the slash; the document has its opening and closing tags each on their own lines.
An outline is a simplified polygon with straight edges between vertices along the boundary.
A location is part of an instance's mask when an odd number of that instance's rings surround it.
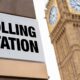
<svg viewBox="0 0 80 80">
<path fill-rule="evenodd" d="M 0 58 L 44 62 L 36 19 L 0 13 Z"/>
</svg>

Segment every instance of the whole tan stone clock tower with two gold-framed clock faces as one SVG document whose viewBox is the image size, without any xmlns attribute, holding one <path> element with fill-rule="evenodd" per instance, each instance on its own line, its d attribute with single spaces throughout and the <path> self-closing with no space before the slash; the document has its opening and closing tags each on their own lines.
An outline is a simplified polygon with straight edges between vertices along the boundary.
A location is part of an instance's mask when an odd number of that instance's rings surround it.
<svg viewBox="0 0 80 80">
<path fill-rule="evenodd" d="M 61 80 L 80 80 L 80 0 L 49 0 L 46 20 Z"/>
</svg>

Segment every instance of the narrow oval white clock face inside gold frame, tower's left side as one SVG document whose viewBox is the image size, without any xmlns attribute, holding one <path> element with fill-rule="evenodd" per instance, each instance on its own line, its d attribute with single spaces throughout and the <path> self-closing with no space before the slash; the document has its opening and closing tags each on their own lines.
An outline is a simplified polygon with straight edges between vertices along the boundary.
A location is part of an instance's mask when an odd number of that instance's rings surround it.
<svg viewBox="0 0 80 80">
<path fill-rule="evenodd" d="M 54 25 L 57 21 L 57 18 L 58 18 L 58 9 L 57 7 L 53 6 L 50 10 L 49 23 L 51 25 Z"/>
</svg>

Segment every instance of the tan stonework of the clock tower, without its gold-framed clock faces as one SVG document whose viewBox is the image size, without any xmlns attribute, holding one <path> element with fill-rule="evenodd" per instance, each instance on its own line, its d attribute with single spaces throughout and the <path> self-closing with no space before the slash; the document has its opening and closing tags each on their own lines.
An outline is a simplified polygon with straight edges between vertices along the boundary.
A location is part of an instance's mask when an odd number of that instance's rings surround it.
<svg viewBox="0 0 80 80">
<path fill-rule="evenodd" d="M 48 14 L 53 0 L 49 0 Z M 61 80 L 80 80 L 80 16 L 69 12 L 66 0 L 57 0 L 60 20 L 50 32 L 55 48 Z M 48 23 L 49 26 L 49 23 Z"/>
</svg>

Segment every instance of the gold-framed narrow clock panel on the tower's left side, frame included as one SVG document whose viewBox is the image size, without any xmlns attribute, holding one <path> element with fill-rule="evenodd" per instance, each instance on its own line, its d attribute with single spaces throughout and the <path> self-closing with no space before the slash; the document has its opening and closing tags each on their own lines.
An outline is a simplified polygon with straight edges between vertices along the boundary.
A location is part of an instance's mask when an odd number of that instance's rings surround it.
<svg viewBox="0 0 80 80">
<path fill-rule="evenodd" d="M 51 33 L 61 18 L 57 0 L 52 0 L 52 2 L 50 3 L 48 14 L 46 18 L 48 22 L 49 32 Z"/>
</svg>

